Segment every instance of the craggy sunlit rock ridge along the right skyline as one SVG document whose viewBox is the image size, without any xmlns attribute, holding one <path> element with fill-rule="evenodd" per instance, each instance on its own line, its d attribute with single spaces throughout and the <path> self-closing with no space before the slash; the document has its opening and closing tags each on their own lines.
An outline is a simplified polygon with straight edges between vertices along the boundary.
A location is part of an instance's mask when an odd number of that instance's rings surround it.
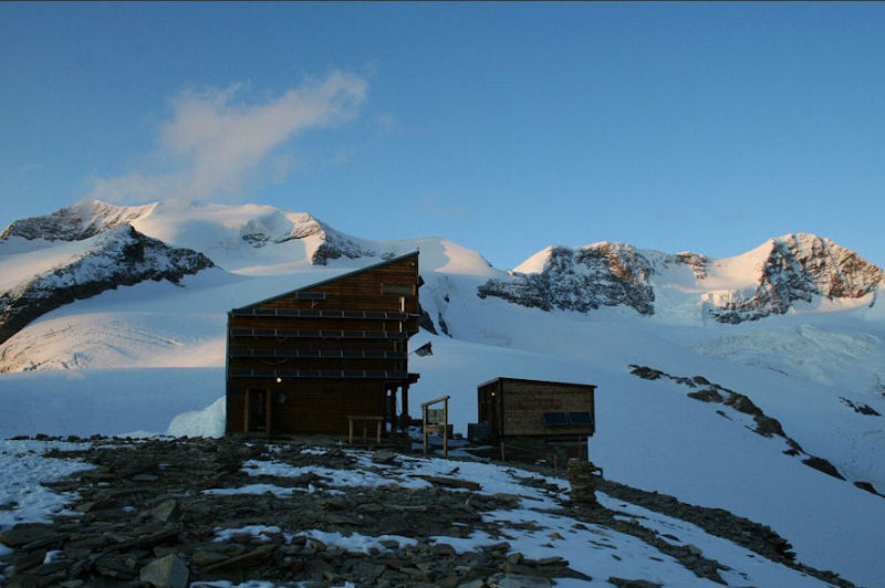
<svg viewBox="0 0 885 588">
<path fill-rule="evenodd" d="M 829 239 L 799 233 L 771 239 L 757 267 L 758 285 L 704 292 L 717 261 L 702 254 L 639 252 L 624 243 L 602 242 L 579 249 L 553 246 L 537 254 L 542 266 L 511 271 L 506 280 L 479 286 L 480 298 L 499 297 L 529 308 L 587 313 L 603 306 L 625 306 L 655 314 L 655 277 L 676 265 L 688 267 L 701 292 L 702 313 L 719 323 L 738 324 L 785 314 L 796 303 L 815 297 L 856 300 L 874 294 L 883 271 Z M 535 264 L 532 264 L 535 265 Z"/>
</svg>

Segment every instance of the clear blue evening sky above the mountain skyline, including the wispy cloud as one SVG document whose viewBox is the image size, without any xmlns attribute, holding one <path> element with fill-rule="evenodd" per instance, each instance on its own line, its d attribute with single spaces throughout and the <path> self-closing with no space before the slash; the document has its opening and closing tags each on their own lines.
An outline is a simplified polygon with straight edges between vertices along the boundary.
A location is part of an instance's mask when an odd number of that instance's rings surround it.
<svg viewBox="0 0 885 588">
<path fill-rule="evenodd" d="M 261 202 L 496 266 L 815 232 L 885 265 L 883 3 L 0 3 L 0 224 Z"/>
</svg>

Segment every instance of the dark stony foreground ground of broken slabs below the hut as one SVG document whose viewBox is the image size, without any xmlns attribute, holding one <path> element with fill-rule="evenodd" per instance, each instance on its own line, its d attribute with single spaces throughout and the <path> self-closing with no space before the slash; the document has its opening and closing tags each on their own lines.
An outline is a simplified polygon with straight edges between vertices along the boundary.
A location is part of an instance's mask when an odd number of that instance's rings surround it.
<svg viewBox="0 0 885 588">
<path fill-rule="evenodd" d="M 508 531 L 532 523 L 503 523 L 483 514 L 518 508 L 520 497 L 483 493 L 479 483 L 455 475 L 458 466 L 450 475 L 409 474 L 423 481 L 420 486 L 372 483 L 342 487 L 310 468 L 374 480 L 383 479 L 392 464 L 416 458 L 387 449 L 353 451 L 332 440 L 322 445 L 317 439 L 90 441 L 88 449 L 51 454 L 95 465 L 46 484 L 70 493 L 75 513 L 55 516 L 52 524 L 20 524 L 0 533 L 0 543 L 12 549 L 0 556 L 8 588 L 188 582 L 200 587 L 250 579 L 277 586 L 351 582 L 480 588 L 590 579 L 562 557 L 530 559 L 512 548 Z M 271 460 L 280 468 L 304 473 L 278 475 L 262 470 L 260 464 Z M 617 511 L 577 502 L 579 493 L 570 497 L 561 485 L 551 483 L 548 475 L 552 472 L 535 470 L 525 471 L 520 483 L 549 496 L 553 505 L 549 511 L 573 519 L 574 528 L 601 525 L 634 536 L 675 558 L 696 577 L 725 584 L 720 573 L 726 566 L 705 557 L 697 547 L 676 545 Z M 809 576 L 852 586 L 831 573 L 796 563 L 789 543 L 763 525 L 597 476 L 590 483 L 617 501 L 688 521 Z M 246 486 L 256 490 L 236 493 Z M 478 531 L 498 543 L 467 550 L 449 544 Z M 333 536 L 364 537 L 366 542 L 345 550 L 322 538 Z M 643 578 L 602 579 L 615 586 L 656 586 Z"/>
</svg>

